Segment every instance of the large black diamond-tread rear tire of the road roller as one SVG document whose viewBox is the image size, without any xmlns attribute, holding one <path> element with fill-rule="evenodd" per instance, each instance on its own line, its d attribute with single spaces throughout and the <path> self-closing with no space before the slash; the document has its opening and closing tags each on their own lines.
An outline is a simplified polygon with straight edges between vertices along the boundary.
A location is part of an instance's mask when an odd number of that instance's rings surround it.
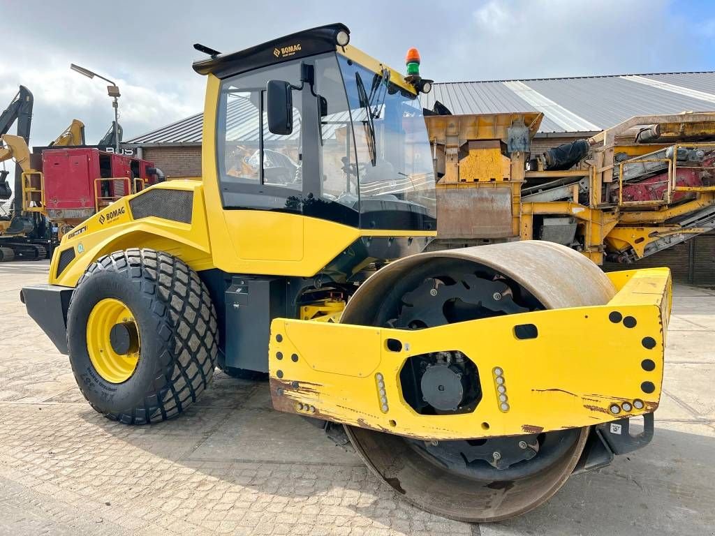
<svg viewBox="0 0 715 536">
<path fill-rule="evenodd" d="M 107 299 L 129 309 L 139 336 L 136 367 L 122 382 L 109 381 L 96 366 L 114 352 L 109 333 L 102 357 L 89 355 L 94 343 L 88 341 L 104 337 L 90 314 Z M 217 340 L 216 312 L 197 273 L 153 249 L 97 259 L 80 279 L 67 313 L 69 361 L 79 389 L 94 410 L 126 424 L 167 420 L 195 402 L 212 381 Z"/>
</svg>

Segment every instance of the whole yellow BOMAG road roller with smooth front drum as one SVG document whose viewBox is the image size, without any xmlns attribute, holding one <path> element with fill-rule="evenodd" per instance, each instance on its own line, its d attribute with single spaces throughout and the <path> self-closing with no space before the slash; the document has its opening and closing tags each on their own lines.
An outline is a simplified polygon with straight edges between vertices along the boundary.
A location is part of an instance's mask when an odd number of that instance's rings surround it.
<svg viewBox="0 0 715 536">
<path fill-rule="evenodd" d="M 94 214 L 22 299 L 110 419 L 179 415 L 215 366 L 267 374 L 275 409 L 342 434 L 405 500 L 527 512 L 651 439 L 669 271 L 604 274 L 540 241 L 422 252 L 430 81 L 348 41 L 333 24 L 197 45 L 202 181 Z"/>
</svg>

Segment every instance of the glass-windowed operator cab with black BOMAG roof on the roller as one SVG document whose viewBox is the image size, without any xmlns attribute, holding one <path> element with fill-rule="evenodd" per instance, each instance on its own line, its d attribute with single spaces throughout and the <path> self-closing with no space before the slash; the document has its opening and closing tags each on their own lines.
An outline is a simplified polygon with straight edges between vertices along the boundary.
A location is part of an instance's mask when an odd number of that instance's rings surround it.
<svg viewBox="0 0 715 536">
<path fill-rule="evenodd" d="M 434 231 L 435 175 L 418 92 L 347 40 L 347 28 L 333 24 L 194 63 L 221 80 L 222 206 Z"/>
</svg>

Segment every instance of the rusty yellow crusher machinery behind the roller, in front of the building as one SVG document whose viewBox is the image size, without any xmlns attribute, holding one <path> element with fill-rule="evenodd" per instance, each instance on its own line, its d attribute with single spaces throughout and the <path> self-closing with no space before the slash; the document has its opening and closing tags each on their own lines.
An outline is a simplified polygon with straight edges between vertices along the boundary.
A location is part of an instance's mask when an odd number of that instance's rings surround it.
<svg viewBox="0 0 715 536">
<path fill-rule="evenodd" d="M 542 239 L 631 263 L 715 229 L 715 112 L 631 117 L 531 152 L 543 114 L 425 116 L 437 173 L 428 249 Z"/>
</svg>

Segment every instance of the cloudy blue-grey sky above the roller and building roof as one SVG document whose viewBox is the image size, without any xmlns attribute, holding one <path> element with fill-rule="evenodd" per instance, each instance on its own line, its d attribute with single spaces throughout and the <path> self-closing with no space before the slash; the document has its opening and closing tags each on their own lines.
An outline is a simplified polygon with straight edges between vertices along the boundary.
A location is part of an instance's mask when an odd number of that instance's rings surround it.
<svg viewBox="0 0 715 536">
<path fill-rule="evenodd" d="M 194 43 L 230 52 L 332 22 L 400 71 L 418 47 L 435 81 L 715 70 L 708 0 L 0 0 L 0 18 L 0 110 L 27 86 L 38 146 L 73 118 L 97 144 L 113 119 L 104 81 L 70 63 L 117 82 L 129 139 L 202 111 Z"/>
</svg>

